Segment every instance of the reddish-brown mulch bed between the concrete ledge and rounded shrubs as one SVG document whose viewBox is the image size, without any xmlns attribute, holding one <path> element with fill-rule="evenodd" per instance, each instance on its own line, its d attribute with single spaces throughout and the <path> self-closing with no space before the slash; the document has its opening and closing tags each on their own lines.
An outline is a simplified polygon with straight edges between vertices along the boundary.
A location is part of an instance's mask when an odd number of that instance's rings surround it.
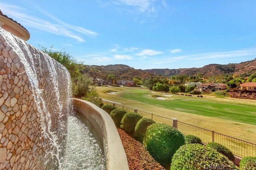
<svg viewBox="0 0 256 170">
<path fill-rule="evenodd" d="M 127 156 L 130 170 L 165 170 L 144 148 L 122 129 L 117 129 Z"/>
</svg>

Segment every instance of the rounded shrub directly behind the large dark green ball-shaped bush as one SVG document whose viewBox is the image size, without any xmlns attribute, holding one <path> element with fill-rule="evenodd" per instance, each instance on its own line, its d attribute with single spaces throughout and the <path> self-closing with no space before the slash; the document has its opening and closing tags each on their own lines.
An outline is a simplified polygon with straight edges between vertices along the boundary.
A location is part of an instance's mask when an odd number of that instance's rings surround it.
<svg viewBox="0 0 256 170">
<path fill-rule="evenodd" d="M 148 126 L 152 125 L 153 123 L 156 122 L 150 118 L 142 117 L 142 119 L 140 119 L 135 126 L 134 138 L 136 138 L 140 142 L 143 142 L 143 138 L 147 131 Z"/>
</svg>

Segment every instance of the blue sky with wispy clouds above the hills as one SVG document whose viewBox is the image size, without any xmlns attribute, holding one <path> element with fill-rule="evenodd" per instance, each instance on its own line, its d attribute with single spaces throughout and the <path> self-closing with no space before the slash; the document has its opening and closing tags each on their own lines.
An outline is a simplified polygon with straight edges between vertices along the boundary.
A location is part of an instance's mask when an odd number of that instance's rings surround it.
<svg viewBox="0 0 256 170">
<path fill-rule="evenodd" d="M 88 65 L 191 68 L 256 58 L 256 0 L 1 0 L 28 43 Z"/>
</svg>

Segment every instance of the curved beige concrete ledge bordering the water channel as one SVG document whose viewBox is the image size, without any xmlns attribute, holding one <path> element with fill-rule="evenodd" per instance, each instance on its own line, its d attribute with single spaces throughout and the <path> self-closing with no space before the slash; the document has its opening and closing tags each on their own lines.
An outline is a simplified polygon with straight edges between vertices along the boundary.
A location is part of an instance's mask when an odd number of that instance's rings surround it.
<svg viewBox="0 0 256 170">
<path fill-rule="evenodd" d="M 108 170 L 129 170 L 127 157 L 114 121 L 98 106 L 80 99 L 72 99 L 76 111 L 92 124 L 102 144 Z"/>
</svg>

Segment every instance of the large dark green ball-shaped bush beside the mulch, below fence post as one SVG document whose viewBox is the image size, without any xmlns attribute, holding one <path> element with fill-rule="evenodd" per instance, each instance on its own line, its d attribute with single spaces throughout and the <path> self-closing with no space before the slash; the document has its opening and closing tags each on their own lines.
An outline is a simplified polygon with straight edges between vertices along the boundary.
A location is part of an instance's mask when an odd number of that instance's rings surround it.
<svg viewBox="0 0 256 170">
<path fill-rule="evenodd" d="M 184 137 L 180 131 L 162 123 L 150 125 L 143 140 L 146 150 L 164 168 L 170 166 L 172 156 L 184 143 Z"/>
</svg>

